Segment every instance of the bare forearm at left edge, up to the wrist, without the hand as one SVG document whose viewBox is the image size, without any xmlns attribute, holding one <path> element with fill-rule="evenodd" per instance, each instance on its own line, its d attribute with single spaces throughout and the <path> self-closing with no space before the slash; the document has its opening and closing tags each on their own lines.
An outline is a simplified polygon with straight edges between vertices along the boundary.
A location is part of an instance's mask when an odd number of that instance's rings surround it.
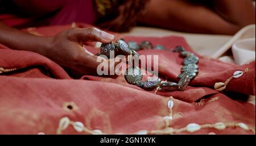
<svg viewBox="0 0 256 146">
<path fill-rule="evenodd" d="M 46 55 L 50 37 L 35 36 L 6 26 L 0 22 L 0 43 L 11 49 L 32 51 Z"/>
</svg>

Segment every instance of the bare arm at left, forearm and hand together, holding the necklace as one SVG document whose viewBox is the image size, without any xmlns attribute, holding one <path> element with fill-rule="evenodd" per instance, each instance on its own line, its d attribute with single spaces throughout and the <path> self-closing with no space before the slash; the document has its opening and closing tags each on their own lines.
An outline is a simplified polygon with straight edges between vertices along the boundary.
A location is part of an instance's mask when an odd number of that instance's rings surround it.
<svg viewBox="0 0 256 146">
<path fill-rule="evenodd" d="M 97 56 L 86 51 L 81 44 L 90 41 L 109 43 L 114 36 L 97 28 L 70 28 L 51 37 L 35 36 L 0 23 L 0 43 L 9 48 L 32 51 L 46 56 L 63 66 L 74 77 L 96 74 Z M 109 60 L 110 62 L 110 60 Z M 110 66 L 114 68 L 119 62 Z"/>
</svg>

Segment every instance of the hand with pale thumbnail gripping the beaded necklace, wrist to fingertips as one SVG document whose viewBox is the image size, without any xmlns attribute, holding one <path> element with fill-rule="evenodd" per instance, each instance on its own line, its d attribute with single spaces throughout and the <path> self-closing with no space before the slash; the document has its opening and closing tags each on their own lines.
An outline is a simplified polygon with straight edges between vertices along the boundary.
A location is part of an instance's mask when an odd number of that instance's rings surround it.
<svg viewBox="0 0 256 146">
<path fill-rule="evenodd" d="M 51 45 L 43 51 L 43 55 L 63 66 L 74 76 L 96 74 L 97 66 L 101 62 L 97 62 L 98 56 L 86 51 L 81 44 L 88 41 L 109 43 L 113 39 L 113 35 L 97 28 L 71 28 L 50 37 Z"/>
</svg>

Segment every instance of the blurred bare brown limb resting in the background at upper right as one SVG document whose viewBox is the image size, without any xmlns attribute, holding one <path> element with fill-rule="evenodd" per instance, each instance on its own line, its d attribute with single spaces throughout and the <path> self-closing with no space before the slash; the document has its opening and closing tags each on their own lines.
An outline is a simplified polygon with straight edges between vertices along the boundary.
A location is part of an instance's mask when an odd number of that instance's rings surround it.
<svg viewBox="0 0 256 146">
<path fill-rule="evenodd" d="M 139 23 L 170 30 L 233 35 L 255 24 L 251 0 L 151 0 Z"/>
</svg>

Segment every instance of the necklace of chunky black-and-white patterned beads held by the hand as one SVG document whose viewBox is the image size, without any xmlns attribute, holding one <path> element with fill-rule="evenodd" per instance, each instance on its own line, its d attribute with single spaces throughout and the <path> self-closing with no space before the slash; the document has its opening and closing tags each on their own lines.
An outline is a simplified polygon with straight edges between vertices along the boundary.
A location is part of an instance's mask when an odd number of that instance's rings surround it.
<svg viewBox="0 0 256 146">
<path fill-rule="evenodd" d="M 138 57 L 139 55 L 136 52 L 137 50 L 151 48 L 152 44 L 149 41 L 142 41 L 142 43 L 139 45 L 135 41 L 129 41 L 126 43 L 124 40 L 119 39 L 115 43 L 102 43 L 100 53 L 97 53 L 97 56 L 105 55 L 108 57 L 108 59 L 110 59 L 110 56 L 112 53 L 114 53 L 114 55 L 133 55 Z M 164 49 L 164 47 L 162 45 L 156 45 L 155 49 Z M 197 66 L 199 57 L 191 52 L 185 51 L 185 49 L 180 46 L 177 46 L 172 50 L 172 52 L 178 52 L 180 53 L 180 56 L 185 57 L 183 67 L 181 68 L 181 73 L 177 76 L 177 78 L 179 78 L 178 83 L 161 81 L 161 79 L 158 77 L 152 77 L 146 81 L 142 81 L 143 75 L 138 66 L 131 66 L 126 69 L 125 80 L 129 84 L 136 85 L 144 90 L 184 90 L 185 87 L 188 86 L 189 82 L 191 82 L 199 73 L 199 67 Z"/>
</svg>

